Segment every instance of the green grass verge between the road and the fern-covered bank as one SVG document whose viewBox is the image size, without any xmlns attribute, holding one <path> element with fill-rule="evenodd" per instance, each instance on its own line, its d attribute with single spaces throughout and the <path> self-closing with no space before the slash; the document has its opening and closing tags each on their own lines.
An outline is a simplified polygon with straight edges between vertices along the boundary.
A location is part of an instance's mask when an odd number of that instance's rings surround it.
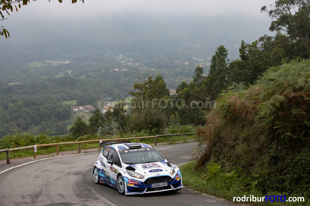
<svg viewBox="0 0 310 206">
<path fill-rule="evenodd" d="M 285 195 L 288 199 L 289 195 L 280 194 L 277 191 L 270 191 L 267 194 L 263 194 L 255 188 L 255 182 L 251 182 L 251 179 L 246 176 L 239 177 L 237 172 L 230 171 L 225 172 L 218 164 L 208 164 L 207 166 L 195 169 L 196 162 L 188 162 L 180 166 L 182 174 L 182 183 L 185 187 L 193 190 L 213 195 L 215 197 L 223 198 L 233 202 L 233 197 L 265 197 L 265 195 Z M 294 195 L 292 195 L 294 196 Z M 309 205 L 309 201 L 305 199 L 305 202 L 233 202 L 243 203 L 247 205 Z"/>
</svg>

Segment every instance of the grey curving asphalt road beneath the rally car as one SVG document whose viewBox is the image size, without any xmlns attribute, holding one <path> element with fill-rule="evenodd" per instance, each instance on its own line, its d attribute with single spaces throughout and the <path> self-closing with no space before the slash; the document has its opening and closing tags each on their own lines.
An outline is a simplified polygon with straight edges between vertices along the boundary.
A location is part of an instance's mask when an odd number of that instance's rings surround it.
<svg viewBox="0 0 310 206">
<path fill-rule="evenodd" d="M 197 142 L 155 146 L 171 163 L 191 159 Z M 120 195 L 112 187 L 97 185 L 92 168 L 99 152 L 47 158 L 0 173 L 0 205 L 136 206 L 233 205 L 226 200 L 184 188 L 178 192 Z"/>
</svg>

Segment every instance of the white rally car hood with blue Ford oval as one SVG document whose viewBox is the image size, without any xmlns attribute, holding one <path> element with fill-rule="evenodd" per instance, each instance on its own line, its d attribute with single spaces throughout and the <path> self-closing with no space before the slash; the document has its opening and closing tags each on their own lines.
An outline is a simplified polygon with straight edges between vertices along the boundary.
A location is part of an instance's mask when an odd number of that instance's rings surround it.
<svg viewBox="0 0 310 206">
<path fill-rule="evenodd" d="M 171 167 L 169 167 L 166 161 L 162 162 L 149 162 L 149 163 L 141 163 L 141 164 L 133 164 L 129 165 L 135 168 L 135 172 L 142 175 L 154 175 L 154 174 L 167 174 L 170 172 Z"/>
</svg>

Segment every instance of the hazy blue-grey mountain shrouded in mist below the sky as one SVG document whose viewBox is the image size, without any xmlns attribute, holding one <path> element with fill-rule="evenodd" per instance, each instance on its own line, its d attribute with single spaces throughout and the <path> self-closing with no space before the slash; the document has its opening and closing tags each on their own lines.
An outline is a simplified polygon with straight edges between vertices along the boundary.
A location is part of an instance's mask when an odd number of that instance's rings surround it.
<svg viewBox="0 0 310 206">
<path fill-rule="evenodd" d="M 270 22 L 240 17 L 136 15 L 5 23 L 11 37 L 0 38 L 0 61 L 24 63 L 85 51 L 115 54 L 141 51 L 141 54 L 147 52 L 150 55 L 155 51 L 178 53 L 177 57 L 211 57 L 221 44 L 233 60 L 239 56 L 241 40 L 251 43 L 264 34 L 271 35 L 268 31 Z"/>
</svg>

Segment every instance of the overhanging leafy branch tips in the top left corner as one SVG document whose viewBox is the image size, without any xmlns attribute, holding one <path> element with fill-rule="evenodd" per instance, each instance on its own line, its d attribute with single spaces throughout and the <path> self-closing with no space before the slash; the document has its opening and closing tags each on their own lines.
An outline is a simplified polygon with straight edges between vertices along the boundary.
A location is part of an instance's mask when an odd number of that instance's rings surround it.
<svg viewBox="0 0 310 206">
<path fill-rule="evenodd" d="M 33 1 L 37 1 L 37 0 L 33 0 Z M 49 2 L 51 0 L 48 0 Z M 60 3 L 62 2 L 62 0 L 58 0 Z M 80 0 L 84 3 L 84 0 Z M 72 3 L 76 3 L 77 0 L 72 0 Z M 16 12 L 18 11 L 18 8 L 21 7 L 21 5 L 27 5 L 28 3 L 30 3 L 30 0 L 0 0 L 0 15 L 1 15 L 1 20 L 5 20 L 8 18 L 5 18 L 4 15 L 2 14 L 2 11 L 5 11 L 7 13 L 7 15 L 10 15 L 10 12 L 13 12 L 13 10 L 16 10 Z M 17 6 L 16 6 L 17 5 Z M 10 37 L 10 33 L 1 26 L 0 29 L 0 35 L 1 36 L 5 36 Z"/>
</svg>

